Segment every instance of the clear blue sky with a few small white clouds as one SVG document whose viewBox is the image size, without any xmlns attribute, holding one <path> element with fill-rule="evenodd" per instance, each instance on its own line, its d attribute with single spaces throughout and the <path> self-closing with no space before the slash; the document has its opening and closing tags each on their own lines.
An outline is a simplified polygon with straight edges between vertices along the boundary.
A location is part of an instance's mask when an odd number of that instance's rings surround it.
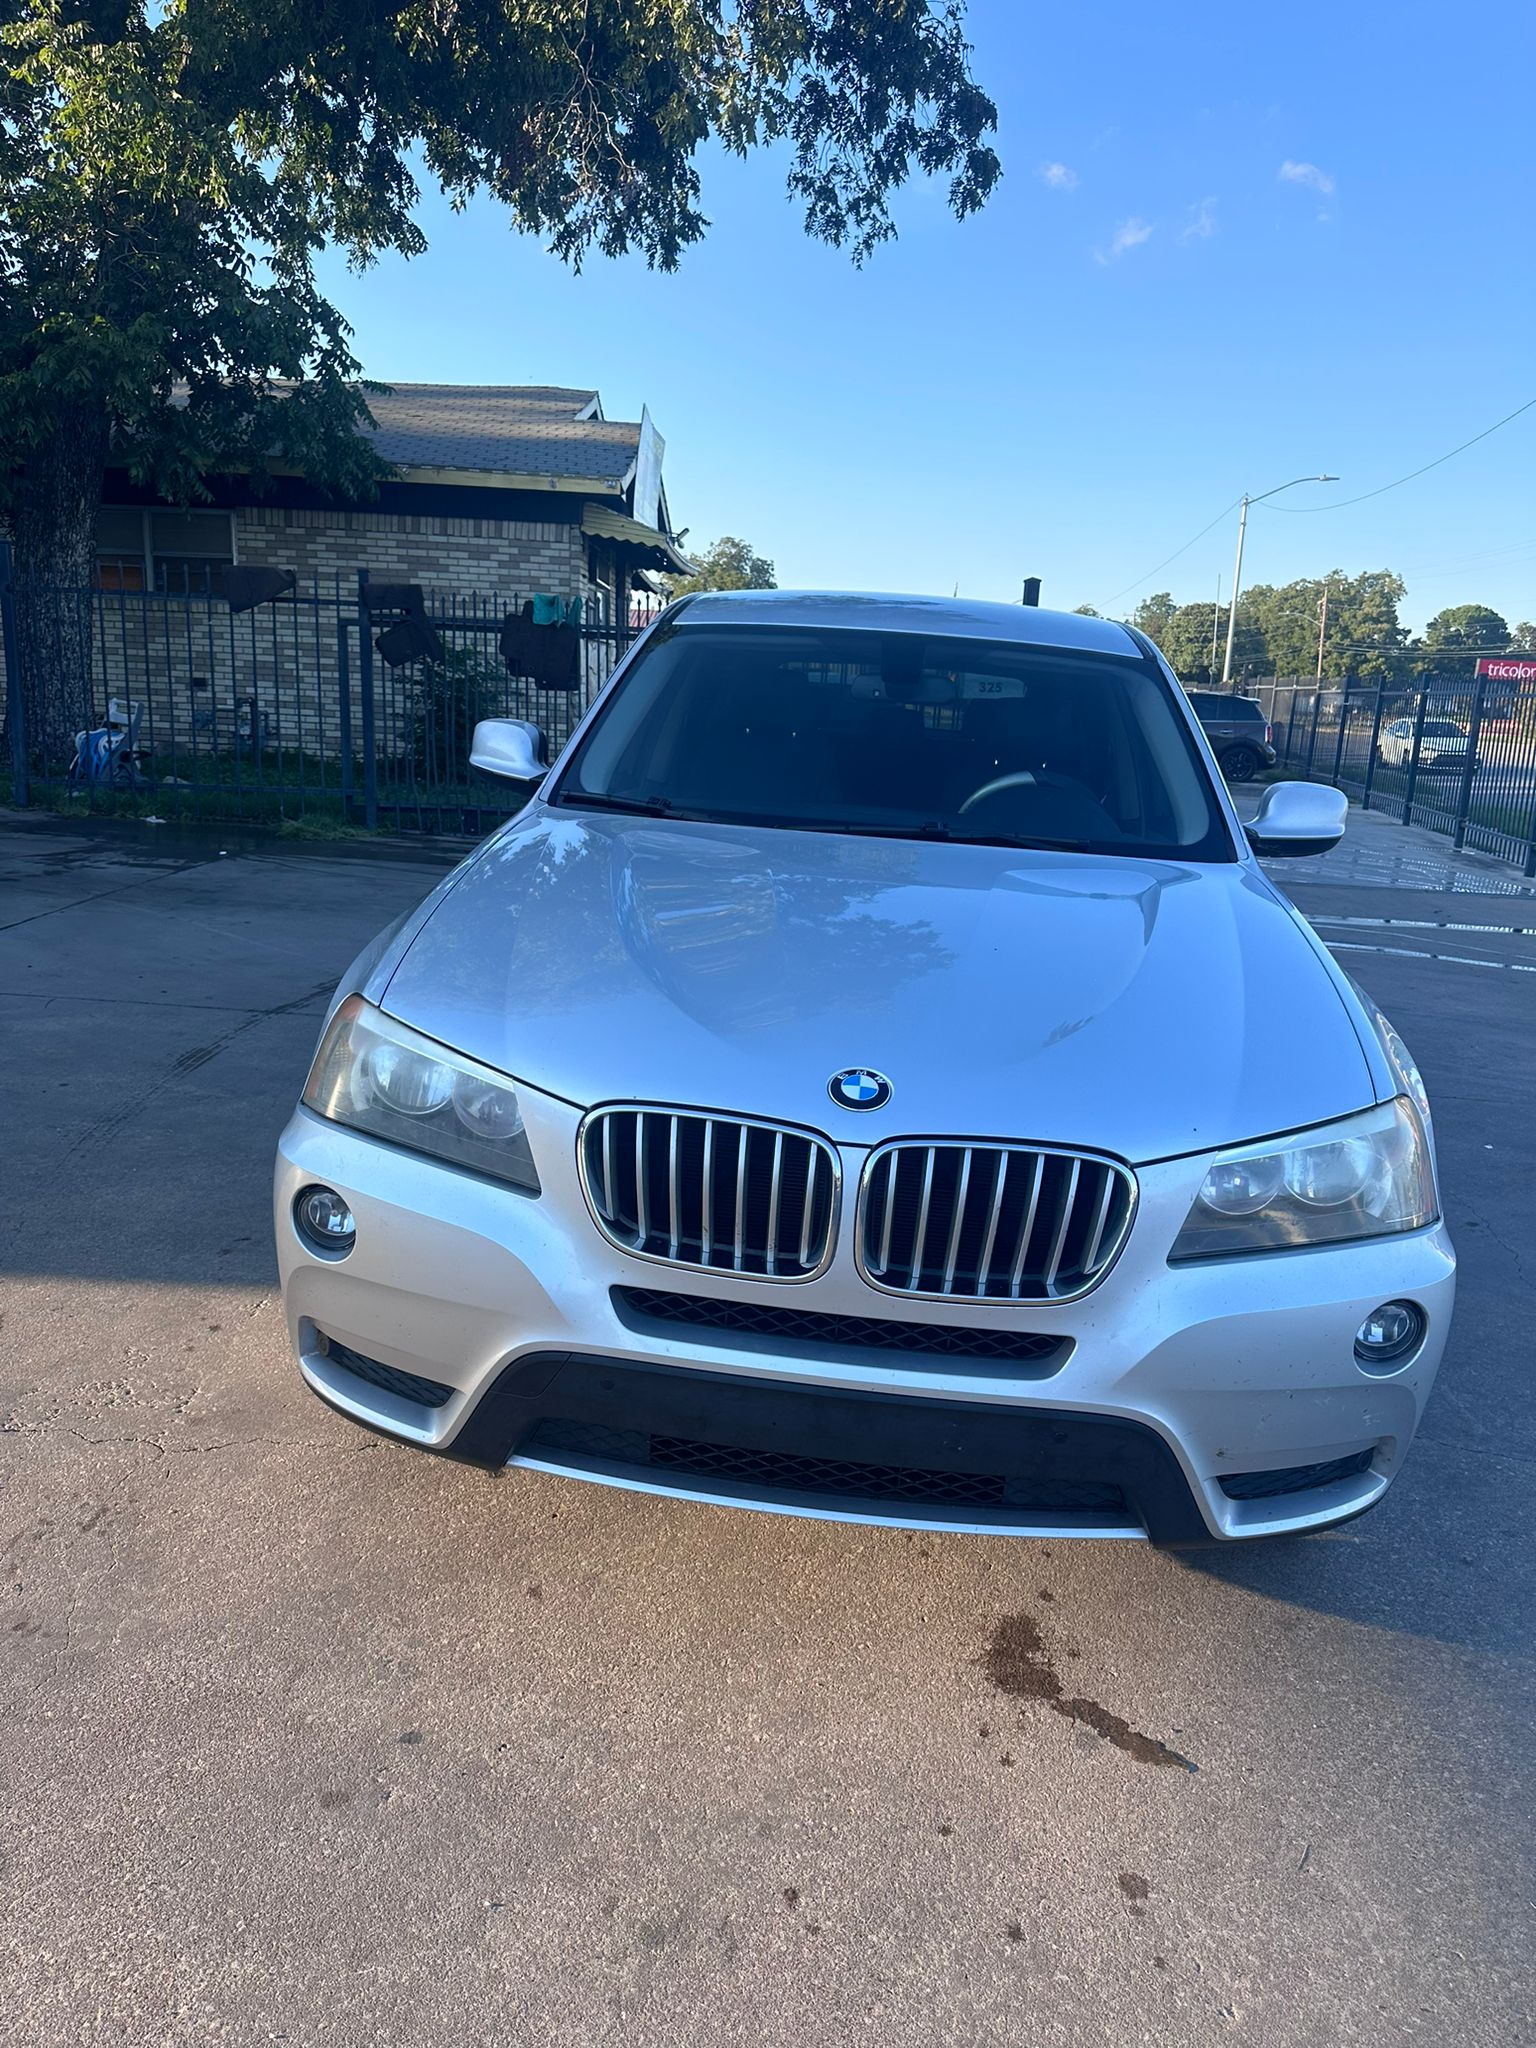
<svg viewBox="0 0 1536 2048">
<path fill-rule="evenodd" d="M 1243 489 L 1329 469 L 1255 508 L 1245 582 L 1393 567 L 1415 629 L 1464 600 L 1532 618 L 1536 410 L 1300 508 L 1536 397 L 1534 20 L 973 0 L 1004 182 L 965 223 L 909 186 L 862 270 L 805 238 L 782 162 L 711 154 L 715 225 L 672 276 L 575 276 L 426 195 L 426 256 L 326 283 L 385 381 L 649 403 L 690 543 L 743 535 L 784 586 L 1208 598 L 1235 514 L 1139 580 Z"/>
</svg>

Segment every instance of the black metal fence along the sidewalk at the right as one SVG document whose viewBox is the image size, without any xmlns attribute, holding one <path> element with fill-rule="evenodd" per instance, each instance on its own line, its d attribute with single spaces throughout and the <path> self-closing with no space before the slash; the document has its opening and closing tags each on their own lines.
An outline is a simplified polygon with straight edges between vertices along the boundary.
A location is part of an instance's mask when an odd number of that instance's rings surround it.
<svg viewBox="0 0 1536 2048">
<path fill-rule="evenodd" d="M 1280 768 L 1536 874 L 1536 682 L 1262 682 Z"/>
</svg>

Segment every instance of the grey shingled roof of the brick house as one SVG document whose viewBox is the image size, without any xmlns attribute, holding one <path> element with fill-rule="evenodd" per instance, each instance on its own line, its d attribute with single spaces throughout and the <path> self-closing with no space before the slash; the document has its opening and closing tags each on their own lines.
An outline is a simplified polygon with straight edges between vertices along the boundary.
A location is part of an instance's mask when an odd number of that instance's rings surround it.
<svg viewBox="0 0 1536 2048">
<path fill-rule="evenodd" d="M 641 428 L 604 420 L 596 391 L 563 385 L 393 385 L 369 393 L 373 444 L 401 469 L 496 475 L 629 475 Z"/>
</svg>

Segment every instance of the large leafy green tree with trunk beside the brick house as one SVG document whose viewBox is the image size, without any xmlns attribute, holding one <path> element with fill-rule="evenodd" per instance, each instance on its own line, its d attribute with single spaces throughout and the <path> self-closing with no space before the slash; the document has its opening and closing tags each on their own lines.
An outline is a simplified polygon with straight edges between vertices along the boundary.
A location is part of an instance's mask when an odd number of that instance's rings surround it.
<svg viewBox="0 0 1536 2048">
<path fill-rule="evenodd" d="M 911 172 L 979 207 L 993 127 L 963 0 L 4 0 L 0 512 L 43 741 L 90 659 L 43 592 L 90 582 L 109 455 L 178 500 L 377 475 L 315 258 L 420 252 L 418 172 L 571 264 L 670 268 L 700 147 L 780 145 L 809 233 L 862 258 Z"/>
</svg>

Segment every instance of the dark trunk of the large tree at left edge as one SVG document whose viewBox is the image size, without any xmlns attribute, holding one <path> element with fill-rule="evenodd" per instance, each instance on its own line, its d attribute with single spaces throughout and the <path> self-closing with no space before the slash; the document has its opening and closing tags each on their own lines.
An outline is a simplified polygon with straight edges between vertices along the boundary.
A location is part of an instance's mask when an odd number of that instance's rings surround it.
<svg viewBox="0 0 1536 2048">
<path fill-rule="evenodd" d="M 74 735 L 92 723 L 90 592 L 104 467 L 106 418 L 66 406 L 27 463 L 10 514 L 27 741 L 45 774 L 68 768 Z"/>
</svg>

